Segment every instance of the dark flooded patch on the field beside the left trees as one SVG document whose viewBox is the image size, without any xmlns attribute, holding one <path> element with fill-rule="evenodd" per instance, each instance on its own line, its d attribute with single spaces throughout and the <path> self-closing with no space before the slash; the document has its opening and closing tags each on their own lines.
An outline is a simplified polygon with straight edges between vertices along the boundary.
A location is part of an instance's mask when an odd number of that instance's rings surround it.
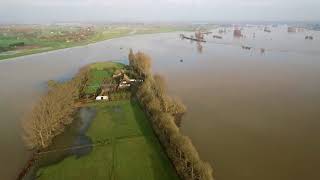
<svg viewBox="0 0 320 180">
<path fill-rule="evenodd" d="M 82 107 L 76 112 L 73 122 L 66 127 L 63 133 L 59 134 L 52 144 L 43 150 L 46 152 L 39 156 L 36 163 L 27 173 L 25 179 L 36 179 L 38 170 L 42 167 L 57 163 L 68 156 L 79 158 L 91 152 L 92 147 L 77 148 L 83 145 L 90 145 L 91 139 L 86 136 L 96 110 L 91 107 Z M 72 148 L 74 147 L 74 148 Z"/>
</svg>

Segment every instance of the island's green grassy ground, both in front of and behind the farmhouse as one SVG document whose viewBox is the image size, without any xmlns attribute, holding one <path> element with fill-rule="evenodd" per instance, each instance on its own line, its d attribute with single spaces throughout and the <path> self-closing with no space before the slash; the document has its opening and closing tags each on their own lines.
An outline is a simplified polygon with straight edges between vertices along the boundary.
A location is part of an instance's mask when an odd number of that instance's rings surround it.
<svg viewBox="0 0 320 180">
<path fill-rule="evenodd" d="M 127 71 L 124 64 L 112 62 L 89 66 L 83 89 L 85 102 L 81 106 L 94 108 L 97 113 L 86 131 L 92 150 L 84 156 L 69 156 L 40 168 L 36 173 L 38 179 L 179 179 L 138 101 L 127 95 L 130 89 L 115 86 L 117 90 L 112 95 L 101 89 L 106 82 L 121 83 L 123 76 L 118 78 L 114 74 Z M 112 97 L 112 101 L 92 101 L 98 95 Z"/>
</svg>

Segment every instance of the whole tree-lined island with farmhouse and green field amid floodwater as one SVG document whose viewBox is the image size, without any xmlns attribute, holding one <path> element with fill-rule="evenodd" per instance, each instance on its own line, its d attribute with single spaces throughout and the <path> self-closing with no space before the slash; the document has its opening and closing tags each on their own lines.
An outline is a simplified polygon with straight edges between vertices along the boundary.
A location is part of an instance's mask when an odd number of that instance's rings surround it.
<svg viewBox="0 0 320 180">
<path fill-rule="evenodd" d="M 186 107 L 167 94 L 164 77 L 152 74 L 151 57 L 130 50 L 128 59 L 127 65 L 89 64 L 67 82 L 48 82 L 48 93 L 24 120 L 34 154 L 18 179 L 213 179 L 211 166 L 179 130 Z M 83 134 L 90 141 L 50 148 L 83 108 L 94 111 Z M 79 149 L 87 151 L 74 153 Z"/>
</svg>

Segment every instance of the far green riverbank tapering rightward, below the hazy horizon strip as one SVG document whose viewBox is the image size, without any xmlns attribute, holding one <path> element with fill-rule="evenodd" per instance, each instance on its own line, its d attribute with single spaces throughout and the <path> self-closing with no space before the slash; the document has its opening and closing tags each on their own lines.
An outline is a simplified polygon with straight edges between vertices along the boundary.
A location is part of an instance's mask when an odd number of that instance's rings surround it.
<svg viewBox="0 0 320 180">
<path fill-rule="evenodd" d="M 187 27 L 170 26 L 150 26 L 146 28 L 116 26 L 107 29 L 105 27 L 88 27 L 80 30 L 70 30 L 68 27 L 65 27 L 63 29 L 48 28 L 42 30 L 45 32 L 36 29 L 33 33 L 41 35 L 37 35 L 35 37 L 30 36 L 29 34 L 27 34 L 26 37 L 20 37 L 21 35 L 3 36 L 0 31 L 0 61 L 36 53 L 85 46 L 114 38 L 183 30 L 188 31 L 191 29 Z M 2 52 L 1 49 L 4 51 Z"/>
</svg>

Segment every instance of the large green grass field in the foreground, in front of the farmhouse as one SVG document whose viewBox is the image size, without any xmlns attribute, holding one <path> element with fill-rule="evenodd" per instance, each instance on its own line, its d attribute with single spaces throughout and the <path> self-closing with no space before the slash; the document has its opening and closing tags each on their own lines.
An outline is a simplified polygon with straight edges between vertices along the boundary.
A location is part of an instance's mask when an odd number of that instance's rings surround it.
<svg viewBox="0 0 320 180">
<path fill-rule="evenodd" d="M 95 146 L 80 158 L 68 157 L 40 169 L 42 180 L 167 180 L 178 179 L 145 114 L 134 101 L 94 103 L 97 109 L 86 135 Z"/>
</svg>

